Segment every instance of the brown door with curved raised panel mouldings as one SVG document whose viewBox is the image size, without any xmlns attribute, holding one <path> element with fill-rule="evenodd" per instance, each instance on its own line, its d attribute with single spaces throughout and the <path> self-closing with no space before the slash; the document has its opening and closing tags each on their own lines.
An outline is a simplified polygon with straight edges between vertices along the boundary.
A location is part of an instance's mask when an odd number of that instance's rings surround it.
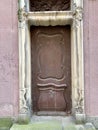
<svg viewBox="0 0 98 130">
<path fill-rule="evenodd" d="M 31 27 L 33 111 L 71 111 L 70 26 Z"/>
</svg>

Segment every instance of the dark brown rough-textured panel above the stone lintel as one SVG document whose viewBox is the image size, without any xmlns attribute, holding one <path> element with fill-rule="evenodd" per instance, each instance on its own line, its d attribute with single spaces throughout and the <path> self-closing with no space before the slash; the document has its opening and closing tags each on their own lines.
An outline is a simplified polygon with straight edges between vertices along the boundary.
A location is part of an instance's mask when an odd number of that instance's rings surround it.
<svg viewBox="0 0 98 130">
<path fill-rule="evenodd" d="M 31 11 L 64 11 L 70 9 L 70 0 L 30 0 Z"/>
</svg>

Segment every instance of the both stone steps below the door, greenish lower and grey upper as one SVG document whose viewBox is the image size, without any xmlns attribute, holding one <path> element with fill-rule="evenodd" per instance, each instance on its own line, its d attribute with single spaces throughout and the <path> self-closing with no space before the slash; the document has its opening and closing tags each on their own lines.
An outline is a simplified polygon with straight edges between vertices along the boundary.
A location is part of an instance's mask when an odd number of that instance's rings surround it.
<svg viewBox="0 0 98 130">
<path fill-rule="evenodd" d="M 29 124 L 14 124 L 10 130 L 95 130 L 95 128 L 91 123 L 76 125 L 72 117 L 33 116 Z"/>
</svg>

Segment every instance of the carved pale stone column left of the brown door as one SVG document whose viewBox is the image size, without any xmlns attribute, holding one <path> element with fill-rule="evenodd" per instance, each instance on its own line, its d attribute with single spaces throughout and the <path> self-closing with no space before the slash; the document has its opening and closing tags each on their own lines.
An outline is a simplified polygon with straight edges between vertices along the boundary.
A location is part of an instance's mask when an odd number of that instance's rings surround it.
<svg viewBox="0 0 98 130">
<path fill-rule="evenodd" d="M 19 0 L 19 114 L 31 112 L 30 42 L 25 0 Z M 28 68 L 29 67 L 29 68 Z M 27 71 L 28 69 L 28 71 Z"/>
</svg>

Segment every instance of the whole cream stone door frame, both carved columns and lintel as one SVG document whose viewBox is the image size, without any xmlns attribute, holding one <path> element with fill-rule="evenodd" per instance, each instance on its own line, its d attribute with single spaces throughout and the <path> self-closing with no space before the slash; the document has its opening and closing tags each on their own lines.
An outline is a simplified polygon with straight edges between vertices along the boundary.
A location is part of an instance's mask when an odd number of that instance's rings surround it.
<svg viewBox="0 0 98 130">
<path fill-rule="evenodd" d="M 72 0 L 70 11 L 30 12 L 29 1 L 18 2 L 19 114 L 32 115 L 30 26 L 71 25 L 72 115 L 85 116 L 83 0 Z"/>
</svg>

